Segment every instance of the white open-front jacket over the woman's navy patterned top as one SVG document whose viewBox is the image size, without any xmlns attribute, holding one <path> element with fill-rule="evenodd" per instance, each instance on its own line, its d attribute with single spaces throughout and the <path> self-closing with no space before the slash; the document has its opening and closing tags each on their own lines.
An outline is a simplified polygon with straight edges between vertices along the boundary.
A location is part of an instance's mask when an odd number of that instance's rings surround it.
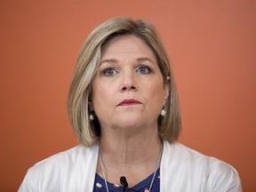
<svg viewBox="0 0 256 192">
<path fill-rule="evenodd" d="M 19 192 L 92 192 L 99 145 L 79 145 L 31 167 Z M 164 141 L 160 165 L 161 192 L 241 192 L 236 170 L 216 158 Z"/>
</svg>

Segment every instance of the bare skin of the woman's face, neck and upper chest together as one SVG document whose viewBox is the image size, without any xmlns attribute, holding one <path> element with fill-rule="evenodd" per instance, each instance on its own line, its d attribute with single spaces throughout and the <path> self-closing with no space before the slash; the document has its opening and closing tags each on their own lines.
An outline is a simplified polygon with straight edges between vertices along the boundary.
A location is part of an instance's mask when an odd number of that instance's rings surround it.
<svg viewBox="0 0 256 192">
<path fill-rule="evenodd" d="M 117 36 L 107 44 L 92 81 L 92 109 L 109 182 L 125 175 L 132 187 L 155 172 L 162 145 L 157 117 L 168 95 L 155 55 L 140 38 Z M 100 164 L 97 172 L 102 177 Z"/>
</svg>

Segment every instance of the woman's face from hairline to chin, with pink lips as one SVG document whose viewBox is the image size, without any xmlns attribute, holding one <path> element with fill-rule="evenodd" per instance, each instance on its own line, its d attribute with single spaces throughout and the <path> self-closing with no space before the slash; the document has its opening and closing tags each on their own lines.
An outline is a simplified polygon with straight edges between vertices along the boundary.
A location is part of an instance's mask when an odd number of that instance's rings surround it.
<svg viewBox="0 0 256 192">
<path fill-rule="evenodd" d="M 147 44 L 131 35 L 108 42 L 92 80 L 92 110 L 101 129 L 157 127 L 168 94 Z"/>
</svg>

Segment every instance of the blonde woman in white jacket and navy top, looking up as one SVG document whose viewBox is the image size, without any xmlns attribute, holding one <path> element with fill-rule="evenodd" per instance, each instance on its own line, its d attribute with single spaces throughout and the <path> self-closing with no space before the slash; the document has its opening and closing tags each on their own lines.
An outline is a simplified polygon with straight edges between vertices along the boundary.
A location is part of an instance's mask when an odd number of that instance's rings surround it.
<svg viewBox="0 0 256 192">
<path fill-rule="evenodd" d="M 30 168 L 20 191 L 242 191 L 230 165 L 175 141 L 176 85 L 146 21 L 116 18 L 92 31 L 68 114 L 82 145 Z"/>
</svg>

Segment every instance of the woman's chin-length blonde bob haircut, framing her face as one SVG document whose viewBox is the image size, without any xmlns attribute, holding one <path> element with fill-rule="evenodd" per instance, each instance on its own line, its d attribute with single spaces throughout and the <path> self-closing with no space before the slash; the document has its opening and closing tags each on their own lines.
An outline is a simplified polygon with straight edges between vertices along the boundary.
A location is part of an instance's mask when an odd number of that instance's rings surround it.
<svg viewBox="0 0 256 192">
<path fill-rule="evenodd" d="M 68 92 L 68 116 L 78 140 L 91 147 L 100 138 L 100 122 L 89 120 L 92 113 L 89 103 L 92 94 L 92 79 L 100 63 L 100 55 L 108 41 L 116 36 L 139 37 L 154 52 L 164 84 L 170 84 L 164 117 L 158 117 L 158 132 L 162 140 L 177 140 L 181 130 L 181 116 L 178 93 L 172 68 L 156 29 L 145 20 L 115 18 L 95 28 L 87 37 L 79 53 L 74 76 Z M 169 81 L 169 82 L 167 82 Z M 157 94 L 157 92 L 156 92 Z M 95 114 L 93 114 L 95 116 Z"/>
</svg>

